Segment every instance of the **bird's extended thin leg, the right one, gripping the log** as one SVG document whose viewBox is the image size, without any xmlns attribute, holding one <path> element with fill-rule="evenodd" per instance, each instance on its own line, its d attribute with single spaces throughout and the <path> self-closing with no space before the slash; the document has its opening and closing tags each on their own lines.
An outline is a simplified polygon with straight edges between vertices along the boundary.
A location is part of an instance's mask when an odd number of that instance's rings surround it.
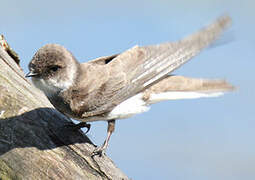
<svg viewBox="0 0 255 180">
<path fill-rule="evenodd" d="M 110 137 L 111 137 L 111 135 L 112 135 L 114 129 L 115 129 L 115 120 L 110 120 L 110 121 L 108 121 L 107 137 L 106 137 L 106 139 L 105 139 L 103 145 L 100 146 L 100 147 L 97 147 L 97 148 L 93 151 L 92 156 L 95 156 L 95 155 L 102 156 L 102 154 L 105 153 L 105 150 L 106 150 L 106 148 L 107 148 L 107 146 L 108 146 Z"/>
</svg>

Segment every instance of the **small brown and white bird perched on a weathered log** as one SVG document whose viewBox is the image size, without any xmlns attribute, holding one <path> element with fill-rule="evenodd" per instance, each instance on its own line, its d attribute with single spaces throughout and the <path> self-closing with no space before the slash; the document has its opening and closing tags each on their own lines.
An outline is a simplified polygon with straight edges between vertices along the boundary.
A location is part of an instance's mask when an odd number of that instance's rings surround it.
<svg viewBox="0 0 255 180">
<path fill-rule="evenodd" d="M 46 44 L 33 56 L 26 77 L 64 115 L 81 121 L 106 121 L 107 136 L 92 155 L 102 156 L 117 119 L 146 112 L 164 100 L 217 97 L 234 86 L 221 79 L 189 78 L 172 72 L 210 46 L 231 24 L 228 15 L 175 42 L 134 46 L 122 53 L 79 63 L 59 44 Z"/>
</svg>

